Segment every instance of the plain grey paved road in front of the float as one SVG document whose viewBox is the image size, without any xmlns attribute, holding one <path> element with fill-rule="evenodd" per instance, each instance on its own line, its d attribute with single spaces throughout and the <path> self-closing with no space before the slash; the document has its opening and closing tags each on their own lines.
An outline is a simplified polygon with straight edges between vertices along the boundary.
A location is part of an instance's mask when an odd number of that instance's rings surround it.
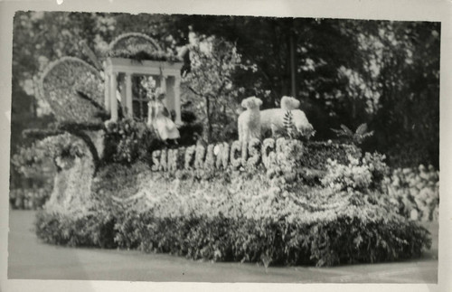
<svg viewBox="0 0 452 292">
<path fill-rule="evenodd" d="M 433 246 L 421 259 L 334 268 L 264 268 L 211 263 L 137 250 L 73 249 L 40 242 L 34 212 L 11 211 L 8 278 L 186 282 L 437 283 L 438 223 L 428 224 Z"/>
</svg>

